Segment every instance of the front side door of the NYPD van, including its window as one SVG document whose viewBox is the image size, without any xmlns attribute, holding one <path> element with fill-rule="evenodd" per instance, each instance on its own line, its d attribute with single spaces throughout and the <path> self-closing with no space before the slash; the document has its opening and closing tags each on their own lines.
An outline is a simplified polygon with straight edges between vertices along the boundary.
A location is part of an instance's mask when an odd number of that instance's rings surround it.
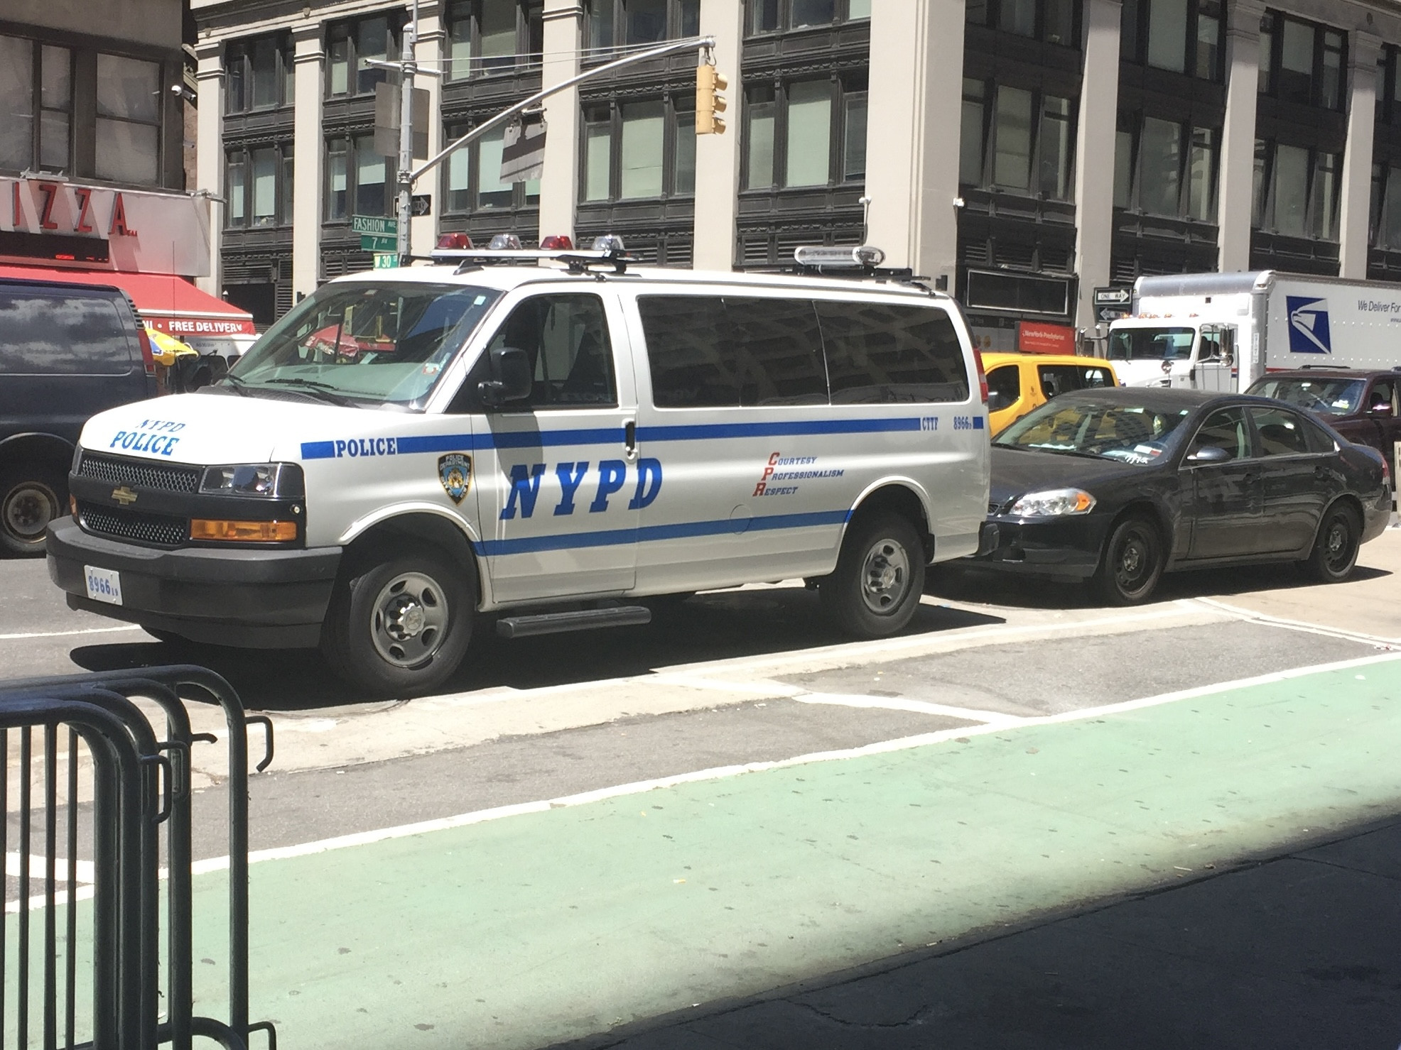
<svg viewBox="0 0 1401 1050">
<path fill-rule="evenodd" d="M 531 396 L 486 406 L 475 437 L 486 568 L 499 603 L 611 595 L 633 584 L 636 398 L 615 295 L 530 294 L 488 340 L 525 351 Z M 646 479 L 643 479 L 646 480 Z"/>
</svg>

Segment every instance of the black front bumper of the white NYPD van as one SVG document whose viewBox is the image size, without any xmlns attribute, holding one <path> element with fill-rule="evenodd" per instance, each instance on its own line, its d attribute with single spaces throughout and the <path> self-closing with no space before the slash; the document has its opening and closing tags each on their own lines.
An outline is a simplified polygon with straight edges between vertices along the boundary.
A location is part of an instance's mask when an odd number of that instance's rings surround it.
<svg viewBox="0 0 1401 1050">
<path fill-rule="evenodd" d="M 70 609 L 247 648 L 317 645 L 340 566 L 340 547 L 164 550 L 92 536 L 70 518 L 46 540 L 49 578 Z M 122 605 L 87 596 L 87 566 L 120 574 Z"/>
</svg>

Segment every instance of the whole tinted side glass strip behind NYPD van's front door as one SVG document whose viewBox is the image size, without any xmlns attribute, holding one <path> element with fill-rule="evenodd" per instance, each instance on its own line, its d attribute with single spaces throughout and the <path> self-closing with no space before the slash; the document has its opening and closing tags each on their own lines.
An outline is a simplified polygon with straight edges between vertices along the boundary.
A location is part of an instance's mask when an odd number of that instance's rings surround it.
<svg viewBox="0 0 1401 1050">
<path fill-rule="evenodd" d="M 640 295 L 663 409 L 961 402 L 968 371 L 932 307 L 737 295 Z"/>
</svg>

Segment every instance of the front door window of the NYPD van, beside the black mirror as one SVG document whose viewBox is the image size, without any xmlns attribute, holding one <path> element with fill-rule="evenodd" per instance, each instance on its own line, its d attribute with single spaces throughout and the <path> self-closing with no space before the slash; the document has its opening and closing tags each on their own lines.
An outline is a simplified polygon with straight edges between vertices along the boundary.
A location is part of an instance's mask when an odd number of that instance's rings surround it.
<svg viewBox="0 0 1401 1050">
<path fill-rule="evenodd" d="M 528 405 L 509 409 L 616 407 L 612 342 L 597 295 L 535 295 L 521 302 L 488 344 L 524 350 L 535 370 Z M 485 377 L 483 377 L 485 378 Z"/>
</svg>

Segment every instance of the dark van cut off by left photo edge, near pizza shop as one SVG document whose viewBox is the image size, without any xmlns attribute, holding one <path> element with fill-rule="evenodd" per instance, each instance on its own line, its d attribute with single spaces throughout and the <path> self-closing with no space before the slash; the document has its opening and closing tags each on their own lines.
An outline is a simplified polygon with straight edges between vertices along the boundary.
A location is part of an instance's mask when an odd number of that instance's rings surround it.
<svg viewBox="0 0 1401 1050">
<path fill-rule="evenodd" d="M 120 288 L 0 279 L 0 552 L 43 553 L 88 416 L 156 393 L 150 340 Z"/>
</svg>

